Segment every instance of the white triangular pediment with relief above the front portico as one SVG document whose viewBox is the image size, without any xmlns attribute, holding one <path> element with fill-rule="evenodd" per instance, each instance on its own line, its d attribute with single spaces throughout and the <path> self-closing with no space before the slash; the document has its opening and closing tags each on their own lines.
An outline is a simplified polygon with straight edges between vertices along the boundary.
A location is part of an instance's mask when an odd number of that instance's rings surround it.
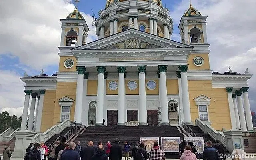
<svg viewBox="0 0 256 160">
<path fill-rule="evenodd" d="M 111 36 L 78 46 L 72 50 L 144 49 L 144 48 L 193 48 L 174 40 L 131 28 Z"/>
</svg>

